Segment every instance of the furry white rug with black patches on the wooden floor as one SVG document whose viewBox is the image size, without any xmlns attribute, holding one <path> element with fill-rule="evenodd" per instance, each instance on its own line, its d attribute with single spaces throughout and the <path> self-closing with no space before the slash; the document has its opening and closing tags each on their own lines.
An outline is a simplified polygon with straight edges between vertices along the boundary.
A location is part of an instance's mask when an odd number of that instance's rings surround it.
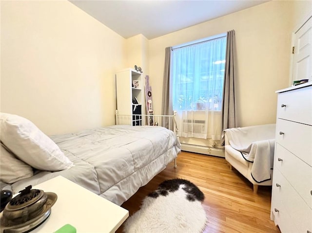
<svg viewBox="0 0 312 233">
<path fill-rule="evenodd" d="M 125 233 L 200 233 L 206 226 L 204 194 L 185 179 L 162 182 L 124 224 Z"/>
</svg>

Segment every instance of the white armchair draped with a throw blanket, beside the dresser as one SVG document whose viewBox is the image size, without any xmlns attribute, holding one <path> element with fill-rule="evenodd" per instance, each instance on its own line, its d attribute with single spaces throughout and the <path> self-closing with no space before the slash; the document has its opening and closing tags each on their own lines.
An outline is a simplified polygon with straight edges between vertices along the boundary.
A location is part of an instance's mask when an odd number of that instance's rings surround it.
<svg viewBox="0 0 312 233">
<path fill-rule="evenodd" d="M 275 124 L 229 128 L 222 132 L 225 159 L 254 185 L 272 185 Z"/>
</svg>

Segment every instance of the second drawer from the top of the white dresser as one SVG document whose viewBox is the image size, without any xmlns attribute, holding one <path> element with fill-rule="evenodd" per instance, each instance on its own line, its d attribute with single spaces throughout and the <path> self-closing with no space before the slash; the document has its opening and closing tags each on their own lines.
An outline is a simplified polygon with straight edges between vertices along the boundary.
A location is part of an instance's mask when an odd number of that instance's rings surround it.
<svg viewBox="0 0 312 233">
<path fill-rule="evenodd" d="M 277 119 L 276 142 L 312 166 L 312 126 Z"/>
</svg>

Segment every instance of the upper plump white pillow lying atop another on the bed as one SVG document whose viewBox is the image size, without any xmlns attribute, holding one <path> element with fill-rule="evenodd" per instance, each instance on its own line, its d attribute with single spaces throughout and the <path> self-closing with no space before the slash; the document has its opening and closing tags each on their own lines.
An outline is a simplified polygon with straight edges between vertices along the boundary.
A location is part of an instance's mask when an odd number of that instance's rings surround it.
<svg viewBox="0 0 312 233">
<path fill-rule="evenodd" d="M 0 113 L 1 142 L 16 157 L 43 171 L 60 171 L 73 166 L 59 146 L 31 121 L 18 115 Z"/>
</svg>

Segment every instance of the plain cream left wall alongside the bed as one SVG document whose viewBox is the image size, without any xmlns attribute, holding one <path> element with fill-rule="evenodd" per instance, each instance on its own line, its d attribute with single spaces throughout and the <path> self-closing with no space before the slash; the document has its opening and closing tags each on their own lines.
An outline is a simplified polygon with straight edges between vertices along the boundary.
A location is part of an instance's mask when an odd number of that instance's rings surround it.
<svg viewBox="0 0 312 233">
<path fill-rule="evenodd" d="M 115 124 L 124 42 L 67 0 L 1 1 L 1 111 L 49 135 Z"/>
</svg>

